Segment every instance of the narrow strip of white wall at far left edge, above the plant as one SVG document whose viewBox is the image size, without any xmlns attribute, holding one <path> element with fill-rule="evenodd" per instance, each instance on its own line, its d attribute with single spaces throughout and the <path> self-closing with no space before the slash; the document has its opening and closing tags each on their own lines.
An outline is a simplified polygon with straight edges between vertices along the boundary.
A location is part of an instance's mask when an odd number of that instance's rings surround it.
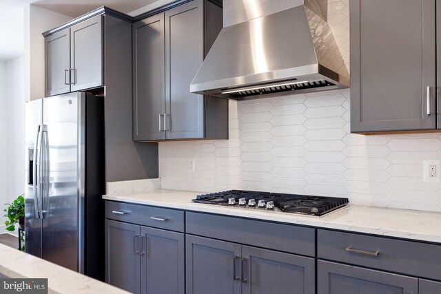
<svg viewBox="0 0 441 294">
<path fill-rule="evenodd" d="M 8 196 L 8 109 L 6 89 L 6 62 L 0 61 L 0 211 L 1 204 L 5 203 Z M 3 214 L 1 214 L 3 216 Z M 3 224 L 0 222 L 0 225 Z M 1 231 L 0 231 L 1 233 Z"/>
</svg>

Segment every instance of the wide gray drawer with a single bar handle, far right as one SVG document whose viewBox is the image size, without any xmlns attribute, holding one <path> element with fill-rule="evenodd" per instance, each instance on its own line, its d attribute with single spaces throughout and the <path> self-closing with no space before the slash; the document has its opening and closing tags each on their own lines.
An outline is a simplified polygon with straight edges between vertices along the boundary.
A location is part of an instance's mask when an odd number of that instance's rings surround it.
<svg viewBox="0 0 441 294">
<path fill-rule="evenodd" d="M 317 256 L 441 280 L 441 246 L 318 229 Z"/>
</svg>

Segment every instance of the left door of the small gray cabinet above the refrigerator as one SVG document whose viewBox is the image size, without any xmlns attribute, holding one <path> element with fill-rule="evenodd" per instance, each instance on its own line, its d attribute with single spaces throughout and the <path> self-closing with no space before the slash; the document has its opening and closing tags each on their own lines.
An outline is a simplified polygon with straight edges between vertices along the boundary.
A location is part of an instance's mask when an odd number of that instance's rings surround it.
<svg viewBox="0 0 441 294">
<path fill-rule="evenodd" d="M 70 92 L 70 28 L 45 38 L 45 96 Z"/>
</svg>

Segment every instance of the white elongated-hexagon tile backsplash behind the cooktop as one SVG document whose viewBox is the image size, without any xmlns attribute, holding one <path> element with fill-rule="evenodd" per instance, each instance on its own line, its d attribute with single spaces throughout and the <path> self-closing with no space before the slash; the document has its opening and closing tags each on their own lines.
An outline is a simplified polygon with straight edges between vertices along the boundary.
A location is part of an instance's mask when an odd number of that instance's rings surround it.
<svg viewBox="0 0 441 294">
<path fill-rule="evenodd" d="M 229 101 L 229 140 L 159 143 L 164 189 L 251 189 L 344 196 L 351 203 L 441 211 L 441 134 L 349 134 L 349 90 Z M 196 172 L 187 171 L 188 158 Z"/>
</svg>

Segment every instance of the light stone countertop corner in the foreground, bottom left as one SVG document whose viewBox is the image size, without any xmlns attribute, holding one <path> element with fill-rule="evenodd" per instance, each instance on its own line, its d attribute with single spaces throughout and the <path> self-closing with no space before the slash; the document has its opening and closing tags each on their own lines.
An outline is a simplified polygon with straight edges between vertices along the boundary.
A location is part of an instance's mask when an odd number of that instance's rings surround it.
<svg viewBox="0 0 441 294">
<path fill-rule="evenodd" d="M 48 293 L 128 293 L 3 244 L 0 244 L 0 273 L 12 278 L 48 278 Z"/>
</svg>

